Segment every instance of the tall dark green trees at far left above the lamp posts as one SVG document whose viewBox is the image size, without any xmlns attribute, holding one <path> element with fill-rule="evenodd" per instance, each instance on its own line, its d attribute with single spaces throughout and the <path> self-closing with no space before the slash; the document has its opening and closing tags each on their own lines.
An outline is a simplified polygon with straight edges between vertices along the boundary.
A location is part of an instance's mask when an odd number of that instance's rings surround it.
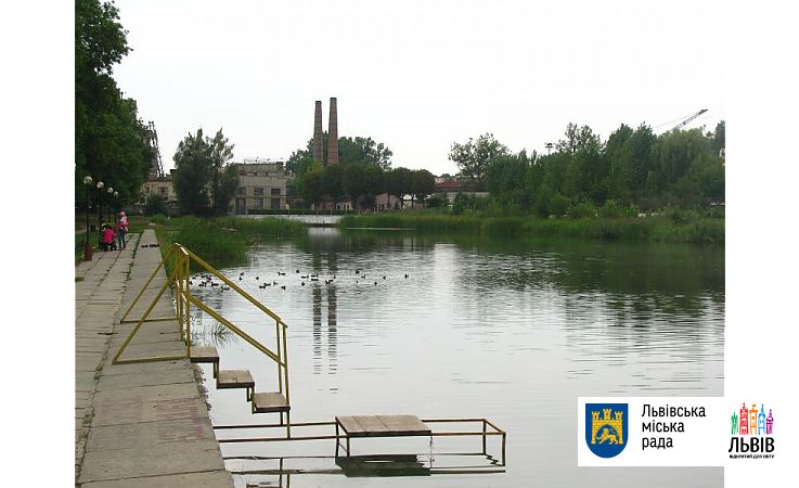
<svg viewBox="0 0 799 488">
<path fill-rule="evenodd" d="M 75 202 L 80 208 L 87 205 L 86 176 L 118 192 L 115 206 L 137 202 L 147 176 L 153 155 L 145 126 L 136 100 L 124 97 L 113 78 L 114 66 L 129 52 L 112 1 L 76 0 Z M 96 197 L 90 192 L 90 200 Z"/>
</svg>

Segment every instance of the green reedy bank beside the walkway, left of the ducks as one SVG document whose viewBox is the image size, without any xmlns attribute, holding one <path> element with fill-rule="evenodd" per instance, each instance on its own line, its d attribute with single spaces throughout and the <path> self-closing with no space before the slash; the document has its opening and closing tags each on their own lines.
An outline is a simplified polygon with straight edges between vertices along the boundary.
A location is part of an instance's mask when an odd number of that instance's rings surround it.
<svg viewBox="0 0 799 488">
<path fill-rule="evenodd" d="M 214 267 L 245 262 L 249 246 L 261 240 L 307 235 L 304 223 L 285 219 L 235 217 L 153 217 L 155 233 L 164 251 L 179 242 Z"/>
</svg>

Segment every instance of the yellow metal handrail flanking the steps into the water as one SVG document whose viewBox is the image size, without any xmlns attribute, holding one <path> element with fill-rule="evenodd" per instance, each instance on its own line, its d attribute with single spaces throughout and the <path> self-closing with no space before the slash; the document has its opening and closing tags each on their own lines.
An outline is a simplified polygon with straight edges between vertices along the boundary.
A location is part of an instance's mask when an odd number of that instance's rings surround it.
<svg viewBox="0 0 799 488">
<path fill-rule="evenodd" d="M 263 346 L 261 343 L 253 338 L 249 334 L 234 325 L 230 320 L 225 319 L 220 312 L 211 309 L 206 304 L 204 304 L 199 298 L 194 296 L 191 292 L 190 286 L 190 279 L 191 279 L 191 265 L 194 262 L 195 265 L 199 266 L 202 269 L 208 271 L 209 273 L 214 274 L 216 278 L 222 281 L 225 285 L 230 286 L 231 290 L 234 290 L 236 293 L 239 293 L 241 296 L 243 296 L 247 301 L 253 304 L 256 308 L 260 309 L 263 313 L 266 313 L 270 319 L 274 320 L 274 331 L 275 331 L 275 348 L 276 352 L 272 351 L 268 347 Z M 158 291 L 157 295 L 147 306 L 146 310 L 140 317 L 139 319 L 128 319 L 128 316 L 130 314 L 131 310 L 141 299 L 142 295 L 144 295 L 144 292 L 147 290 L 150 284 L 153 282 L 157 273 L 160 271 L 162 268 L 168 269 L 169 266 L 171 266 L 171 271 L 168 273 L 166 282 L 160 286 L 160 290 Z M 153 312 L 153 309 L 155 308 L 155 305 L 158 303 L 160 297 L 164 295 L 164 293 L 167 291 L 169 286 L 173 287 L 175 297 L 177 300 L 176 309 L 177 309 L 177 317 L 156 317 L 156 318 L 150 318 L 150 314 Z M 133 323 L 136 322 L 136 326 L 131 331 L 130 335 L 125 339 L 125 343 L 121 345 L 119 350 L 117 351 L 116 356 L 114 356 L 114 359 L 112 361 L 113 364 L 127 364 L 127 363 L 136 363 L 136 362 L 153 362 L 153 361 L 171 361 L 177 359 L 189 359 L 191 358 L 192 354 L 192 342 L 191 342 L 191 307 L 195 306 L 198 309 L 203 310 L 204 312 L 208 313 L 210 317 L 219 321 L 222 325 L 231 330 L 233 333 L 242 337 L 244 341 L 249 343 L 253 347 L 258 349 L 259 351 L 263 352 L 265 356 L 273 360 L 278 364 L 278 385 L 280 388 L 280 393 L 283 394 L 286 398 L 286 403 L 289 402 L 288 399 L 288 349 L 286 345 L 286 333 L 288 330 L 288 325 L 286 325 L 285 322 L 283 322 L 283 319 L 281 319 L 276 313 L 274 313 L 272 310 L 263 306 L 260 301 L 253 298 L 247 292 L 242 290 L 239 285 L 230 281 L 227 277 L 224 277 L 221 272 L 216 270 L 214 267 L 208 265 L 206 261 L 201 259 L 197 255 L 192 253 L 191 251 L 186 249 L 182 245 L 175 243 L 172 247 L 167 252 L 166 256 L 162 259 L 160 264 L 156 269 L 153 271 L 153 273 L 150 275 L 150 279 L 147 279 L 147 282 L 144 284 L 142 290 L 139 292 L 137 297 L 133 299 L 133 301 L 128 307 L 127 311 L 120 319 L 120 323 Z M 125 352 L 125 349 L 128 347 L 130 342 L 132 341 L 133 336 L 139 332 L 141 326 L 145 322 L 159 322 L 159 321 L 168 321 L 168 320 L 177 320 L 178 322 L 178 332 L 180 333 L 181 339 L 185 344 L 185 355 L 180 356 L 152 356 L 152 357 L 137 357 L 131 359 L 123 359 L 123 352 Z M 288 403 L 291 404 L 291 403 Z"/>
</svg>

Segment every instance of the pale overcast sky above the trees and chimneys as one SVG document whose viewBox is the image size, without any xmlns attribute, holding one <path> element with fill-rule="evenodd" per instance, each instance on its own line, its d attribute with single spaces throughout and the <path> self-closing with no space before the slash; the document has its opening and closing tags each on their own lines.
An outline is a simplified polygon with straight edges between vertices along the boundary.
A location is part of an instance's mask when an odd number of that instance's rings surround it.
<svg viewBox="0 0 799 488">
<path fill-rule="evenodd" d="M 569 121 L 603 140 L 708 108 L 724 118 L 720 2 L 117 0 L 133 51 L 115 69 L 165 167 L 220 127 L 243 157 L 286 158 L 324 130 L 372 137 L 392 166 L 456 171 L 453 142 L 484 132 L 543 152 Z M 658 127 L 659 126 L 659 127 Z"/>
</svg>

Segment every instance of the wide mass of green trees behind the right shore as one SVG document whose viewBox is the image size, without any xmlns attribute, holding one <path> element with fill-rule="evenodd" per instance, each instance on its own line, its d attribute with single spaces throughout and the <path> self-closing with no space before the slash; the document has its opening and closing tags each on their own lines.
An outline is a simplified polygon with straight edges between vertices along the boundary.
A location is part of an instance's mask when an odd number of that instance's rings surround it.
<svg viewBox="0 0 799 488">
<path fill-rule="evenodd" d="M 602 141 L 588 126 L 569 124 L 552 154 L 512 153 L 493 134 L 453 143 L 450 159 L 490 202 L 564 215 L 570 208 L 705 207 L 724 201 L 724 121 L 713 131 L 621 125 Z"/>
</svg>

